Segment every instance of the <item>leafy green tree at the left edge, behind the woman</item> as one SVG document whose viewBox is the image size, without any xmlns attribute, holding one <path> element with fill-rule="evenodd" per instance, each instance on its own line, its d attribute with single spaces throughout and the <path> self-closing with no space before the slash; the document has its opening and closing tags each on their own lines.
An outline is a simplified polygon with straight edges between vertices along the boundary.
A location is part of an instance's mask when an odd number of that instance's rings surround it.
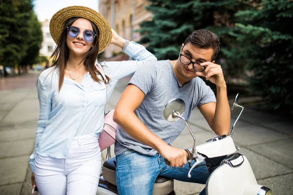
<svg viewBox="0 0 293 195">
<path fill-rule="evenodd" d="M 39 56 L 42 28 L 32 0 L 0 0 L 0 64 L 32 64 Z"/>
</svg>

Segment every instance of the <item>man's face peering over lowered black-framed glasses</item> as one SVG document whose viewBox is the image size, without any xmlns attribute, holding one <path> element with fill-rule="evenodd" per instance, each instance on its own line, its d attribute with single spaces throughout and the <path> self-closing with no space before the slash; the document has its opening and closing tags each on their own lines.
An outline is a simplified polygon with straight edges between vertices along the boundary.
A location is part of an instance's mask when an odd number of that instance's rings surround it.
<svg viewBox="0 0 293 195">
<path fill-rule="evenodd" d="M 188 59 L 200 64 L 205 61 L 211 61 L 211 58 L 213 56 L 213 49 L 201 49 L 197 46 L 187 43 L 186 45 L 182 44 L 181 47 L 181 54 L 186 56 Z M 179 57 L 179 60 L 177 60 L 178 66 L 176 66 L 176 72 L 179 73 L 179 79 L 183 79 L 183 81 L 188 82 L 192 78 L 198 77 L 197 72 L 193 69 L 192 63 L 185 65 L 181 61 L 184 60 L 185 57 Z M 196 64 L 195 64 L 196 65 Z"/>
</svg>

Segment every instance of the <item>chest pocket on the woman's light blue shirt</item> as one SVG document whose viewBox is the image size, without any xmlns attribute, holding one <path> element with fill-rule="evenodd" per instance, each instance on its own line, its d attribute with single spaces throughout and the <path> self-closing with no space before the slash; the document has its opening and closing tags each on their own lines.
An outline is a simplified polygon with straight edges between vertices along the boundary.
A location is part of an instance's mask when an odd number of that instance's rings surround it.
<svg viewBox="0 0 293 195">
<path fill-rule="evenodd" d="M 105 106 L 106 104 L 106 87 L 104 83 L 95 83 L 91 86 L 91 99 L 95 106 Z"/>
</svg>

